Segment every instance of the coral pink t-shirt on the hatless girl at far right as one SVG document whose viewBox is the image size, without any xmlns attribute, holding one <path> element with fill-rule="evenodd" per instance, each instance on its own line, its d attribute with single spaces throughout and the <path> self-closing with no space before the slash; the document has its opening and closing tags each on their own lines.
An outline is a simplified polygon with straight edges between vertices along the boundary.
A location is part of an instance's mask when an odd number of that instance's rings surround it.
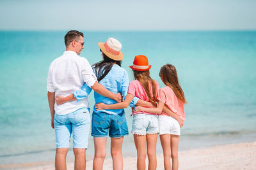
<svg viewBox="0 0 256 170">
<path fill-rule="evenodd" d="M 165 103 L 170 110 L 179 115 L 182 120 L 185 120 L 184 103 L 173 92 L 173 90 L 166 86 L 159 90 L 157 99 Z M 169 116 L 164 111 L 161 115 Z"/>
</svg>

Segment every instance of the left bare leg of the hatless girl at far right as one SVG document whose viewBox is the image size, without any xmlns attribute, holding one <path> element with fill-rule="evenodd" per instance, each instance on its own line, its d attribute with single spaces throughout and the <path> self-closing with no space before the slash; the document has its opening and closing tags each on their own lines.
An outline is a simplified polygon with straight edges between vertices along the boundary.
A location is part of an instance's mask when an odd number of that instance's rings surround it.
<svg viewBox="0 0 256 170">
<path fill-rule="evenodd" d="M 161 134 L 160 141 L 164 154 L 164 170 L 171 170 L 171 135 Z"/>
</svg>

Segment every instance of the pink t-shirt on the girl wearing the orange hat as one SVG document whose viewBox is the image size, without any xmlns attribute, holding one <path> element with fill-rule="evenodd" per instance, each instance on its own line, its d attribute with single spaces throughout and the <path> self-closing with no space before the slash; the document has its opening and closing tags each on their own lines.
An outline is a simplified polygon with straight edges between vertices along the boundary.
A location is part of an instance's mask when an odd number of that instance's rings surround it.
<svg viewBox="0 0 256 170">
<path fill-rule="evenodd" d="M 159 84 L 157 83 L 157 81 L 155 81 L 155 83 L 156 83 L 156 91 L 157 91 L 157 96 L 158 96 Z M 153 92 L 152 91 L 153 91 L 152 90 L 152 84 L 149 83 L 149 92 L 150 92 L 151 96 L 153 96 Z M 138 81 L 138 80 L 132 80 L 129 83 L 128 93 L 132 94 L 133 96 L 138 97 L 139 99 L 141 99 L 143 101 L 149 101 L 147 93 L 145 92 L 145 89 L 143 88 L 143 86 L 141 85 L 140 81 Z M 157 115 L 157 114 L 154 114 L 154 113 L 148 113 L 146 111 L 134 112 L 134 113 L 132 113 L 132 115 L 135 115 L 135 114 L 138 114 L 138 113 Z"/>
</svg>

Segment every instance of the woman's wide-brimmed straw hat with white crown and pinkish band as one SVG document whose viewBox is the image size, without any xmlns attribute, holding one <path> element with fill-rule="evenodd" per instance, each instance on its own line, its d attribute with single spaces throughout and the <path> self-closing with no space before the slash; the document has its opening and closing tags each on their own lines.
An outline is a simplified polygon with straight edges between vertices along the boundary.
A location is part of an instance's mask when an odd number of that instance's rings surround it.
<svg viewBox="0 0 256 170">
<path fill-rule="evenodd" d="M 110 59 L 122 60 L 124 58 L 121 52 L 122 45 L 115 38 L 109 38 L 105 43 L 98 43 L 102 52 L 104 52 Z"/>
</svg>

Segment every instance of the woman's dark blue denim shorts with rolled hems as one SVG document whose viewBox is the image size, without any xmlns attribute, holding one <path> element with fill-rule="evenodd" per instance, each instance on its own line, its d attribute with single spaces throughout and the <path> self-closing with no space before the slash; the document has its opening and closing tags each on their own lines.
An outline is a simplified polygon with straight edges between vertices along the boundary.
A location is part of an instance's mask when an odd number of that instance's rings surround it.
<svg viewBox="0 0 256 170">
<path fill-rule="evenodd" d="M 124 111 L 118 115 L 100 112 L 92 113 L 92 136 L 96 138 L 121 138 L 128 135 Z"/>
</svg>

